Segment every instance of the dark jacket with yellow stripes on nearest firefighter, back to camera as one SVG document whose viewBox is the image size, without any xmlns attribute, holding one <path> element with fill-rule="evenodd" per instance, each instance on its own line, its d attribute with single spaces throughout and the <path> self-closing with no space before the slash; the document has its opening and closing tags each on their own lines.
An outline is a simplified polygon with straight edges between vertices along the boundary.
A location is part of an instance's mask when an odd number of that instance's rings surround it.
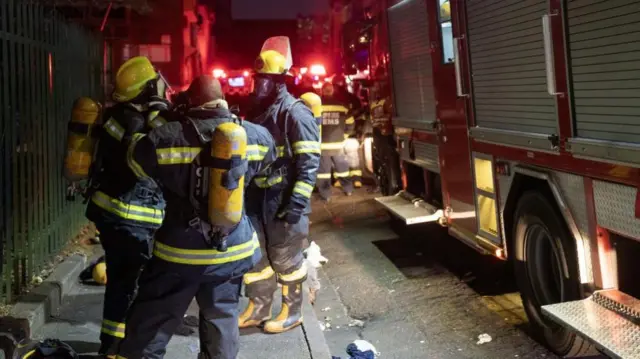
<svg viewBox="0 0 640 359">
<path fill-rule="evenodd" d="M 129 167 L 140 180 L 157 183 L 167 201 L 167 216 L 155 234 L 153 254 L 187 265 L 219 265 L 250 257 L 257 262 L 260 244 L 244 208 L 240 222 L 225 233 L 226 251 L 208 235 L 212 230 L 207 217 L 210 186 L 203 161 L 211 153 L 215 128 L 238 120 L 223 107 L 199 107 L 185 115 L 181 121 L 138 136 L 129 149 Z M 275 161 L 276 146 L 266 129 L 246 121 L 242 126 L 247 134 L 247 167 L 242 170 L 246 189 L 256 174 Z"/>
</svg>

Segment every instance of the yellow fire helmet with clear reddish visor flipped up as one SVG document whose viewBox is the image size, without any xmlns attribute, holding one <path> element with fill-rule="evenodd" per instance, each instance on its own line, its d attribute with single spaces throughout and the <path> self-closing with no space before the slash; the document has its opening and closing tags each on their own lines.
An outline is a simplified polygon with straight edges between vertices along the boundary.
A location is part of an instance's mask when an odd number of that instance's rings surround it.
<svg viewBox="0 0 640 359">
<path fill-rule="evenodd" d="M 268 38 L 262 45 L 254 69 L 259 74 L 284 75 L 292 64 L 289 38 L 274 36 Z"/>
</svg>

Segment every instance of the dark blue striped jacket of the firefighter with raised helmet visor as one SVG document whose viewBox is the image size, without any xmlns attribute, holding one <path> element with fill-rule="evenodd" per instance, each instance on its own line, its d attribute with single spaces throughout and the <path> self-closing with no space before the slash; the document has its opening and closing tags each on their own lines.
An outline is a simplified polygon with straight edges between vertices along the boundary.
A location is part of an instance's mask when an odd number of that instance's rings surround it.
<svg viewBox="0 0 640 359">
<path fill-rule="evenodd" d="M 279 197 L 278 214 L 306 214 L 320 166 L 320 132 L 313 113 L 301 100 L 296 100 L 286 87 L 278 89 L 274 103 L 255 118 L 273 135 L 278 146 L 278 159 L 265 176 L 256 177 L 250 195 Z"/>
</svg>

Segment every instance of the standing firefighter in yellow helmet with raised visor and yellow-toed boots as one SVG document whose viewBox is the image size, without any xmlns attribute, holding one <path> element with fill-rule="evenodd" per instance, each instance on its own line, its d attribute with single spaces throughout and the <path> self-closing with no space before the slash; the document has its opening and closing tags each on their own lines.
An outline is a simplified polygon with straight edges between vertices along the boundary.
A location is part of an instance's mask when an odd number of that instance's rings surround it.
<svg viewBox="0 0 640 359">
<path fill-rule="evenodd" d="M 244 277 L 249 305 L 238 322 L 241 328 L 266 322 L 267 333 L 281 333 L 302 323 L 302 283 L 307 276 L 302 249 L 320 163 L 316 120 L 284 84 L 290 66 L 289 39 L 268 39 L 256 61 L 254 107 L 247 117 L 266 127 L 278 144 L 278 160 L 270 173 L 257 177 L 247 193 L 247 212 L 267 255 Z M 278 282 L 283 304 L 272 318 Z"/>
</svg>

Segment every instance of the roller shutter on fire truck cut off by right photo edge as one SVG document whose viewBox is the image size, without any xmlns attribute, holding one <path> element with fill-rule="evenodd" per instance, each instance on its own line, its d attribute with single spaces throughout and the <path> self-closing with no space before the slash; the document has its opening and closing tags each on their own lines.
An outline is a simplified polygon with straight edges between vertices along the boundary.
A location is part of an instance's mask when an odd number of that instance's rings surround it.
<svg viewBox="0 0 640 359">
<path fill-rule="evenodd" d="M 640 142 L 640 2 L 569 0 L 576 135 Z"/>
</svg>

